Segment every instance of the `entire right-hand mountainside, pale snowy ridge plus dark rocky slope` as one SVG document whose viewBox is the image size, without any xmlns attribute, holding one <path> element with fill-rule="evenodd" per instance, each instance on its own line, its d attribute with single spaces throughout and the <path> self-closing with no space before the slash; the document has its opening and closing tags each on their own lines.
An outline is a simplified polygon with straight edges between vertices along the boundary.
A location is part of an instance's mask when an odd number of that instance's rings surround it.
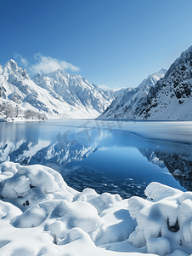
<svg viewBox="0 0 192 256">
<path fill-rule="evenodd" d="M 192 46 L 166 72 L 117 97 L 99 119 L 192 120 Z"/>
</svg>

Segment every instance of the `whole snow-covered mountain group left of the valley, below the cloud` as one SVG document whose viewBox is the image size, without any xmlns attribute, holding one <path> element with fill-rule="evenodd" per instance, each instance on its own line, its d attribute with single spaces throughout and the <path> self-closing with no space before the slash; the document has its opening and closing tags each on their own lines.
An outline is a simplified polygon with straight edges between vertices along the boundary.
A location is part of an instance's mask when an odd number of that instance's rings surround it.
<svg viewBox="0 0 192 256">
<path fill-rule="evenodd" d="M 49 118 L 95 118 L 115 97 L 112 90 L 62 70 L 30 79 L 14 60 L 0 66 L 0 104 L 9 101 L 22 109 L 46 113 Z"/>
</svg>

